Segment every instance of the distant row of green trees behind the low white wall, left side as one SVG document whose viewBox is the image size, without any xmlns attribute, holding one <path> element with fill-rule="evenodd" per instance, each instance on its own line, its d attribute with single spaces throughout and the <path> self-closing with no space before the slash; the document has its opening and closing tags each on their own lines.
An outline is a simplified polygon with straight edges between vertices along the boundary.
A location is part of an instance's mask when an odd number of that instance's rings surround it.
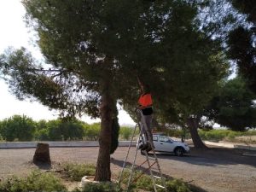
<svg viewBox="0 0 256 192">
<path fill-rule="evenodd" d="M 34 121 L 26 115 L 14 115 L 0 121 L 0 138 L 7 142 L 96 141 L 99 138 L 100 126 L 100 123 L 90 125 L 78 119 Z M 130 127 L 120 127 L 119 139 L 129 139 L 131 133 Z"/>
</svg>

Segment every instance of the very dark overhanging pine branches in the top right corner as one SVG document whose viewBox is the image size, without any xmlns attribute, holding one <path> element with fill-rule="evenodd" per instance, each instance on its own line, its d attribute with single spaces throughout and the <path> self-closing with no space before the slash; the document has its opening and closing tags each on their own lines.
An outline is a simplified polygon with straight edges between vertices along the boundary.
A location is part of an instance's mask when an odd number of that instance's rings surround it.
<svg viewBox="0 0 256 192">
<path fill-rule="evenodd" d="M 256 93 L 256 1 L 230 0 L 233 6 L 247 16 L 247 25 L 237 26 L 228 38 L 230 59 L 236 61 L 238 73 L 250 90 Z"/>
</svg>

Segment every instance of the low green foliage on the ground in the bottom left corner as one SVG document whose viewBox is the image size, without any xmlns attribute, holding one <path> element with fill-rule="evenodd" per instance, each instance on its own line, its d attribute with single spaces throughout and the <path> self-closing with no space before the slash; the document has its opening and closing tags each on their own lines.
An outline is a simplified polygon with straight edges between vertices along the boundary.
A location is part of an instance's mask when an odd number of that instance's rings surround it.
<svg viewBox="0 0 256 192">
<path fill-rule="evenodd" d="M 49 172 L 32 172 L 27 177 L 12 177 L 0 182 L 0 191 L 67 191 L 61 180 Z"/>
</svg>

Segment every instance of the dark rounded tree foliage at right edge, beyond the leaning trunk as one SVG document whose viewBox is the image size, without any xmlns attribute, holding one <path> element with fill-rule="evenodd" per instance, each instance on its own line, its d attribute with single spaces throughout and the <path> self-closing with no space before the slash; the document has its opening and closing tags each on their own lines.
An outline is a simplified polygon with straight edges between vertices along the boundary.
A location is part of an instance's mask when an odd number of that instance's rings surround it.
<svg viewBox="0 0 256 192">
<path fill-rule="evenodd" d="M 212 116 L 218 124 L 233 131 L 245 131 L 247 127 L 256 125 L 255 98 L 243 79 L 231 79 L 224 84 L 218 96 L 213 98 L 206 116 Z"/>
</svg>

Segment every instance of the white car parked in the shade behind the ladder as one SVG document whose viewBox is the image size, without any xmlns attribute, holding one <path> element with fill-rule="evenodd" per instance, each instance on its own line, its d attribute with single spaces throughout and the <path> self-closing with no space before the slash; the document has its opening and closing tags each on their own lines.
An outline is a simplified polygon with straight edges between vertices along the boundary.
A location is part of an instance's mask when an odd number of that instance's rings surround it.
<svg viewBox="0 0 256 192">
<path fill-rule="evenodd" d="M 186 143 L 177 142 L 172 138 L 161 134 L 153 134 L 154 151 L 160 153 L 174 153 L 177 156 L 189 153 L 189 146 Z M 143 144 L 142 141 L 138 144 Z M 142 154 L 144 151 L 141 151 Z"/>
</svg>

